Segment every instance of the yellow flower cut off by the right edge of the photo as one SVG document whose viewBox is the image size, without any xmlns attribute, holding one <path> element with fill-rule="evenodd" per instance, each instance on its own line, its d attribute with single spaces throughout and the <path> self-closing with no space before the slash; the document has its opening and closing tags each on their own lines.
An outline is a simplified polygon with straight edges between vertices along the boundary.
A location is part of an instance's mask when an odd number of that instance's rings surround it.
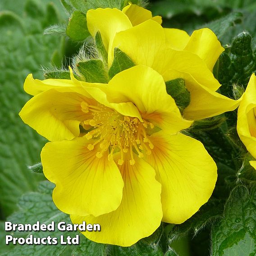
<svg viewBox="0 0 256 256">
<path fill-rule="evenodd" d="M 253 73 L 238 108 L 238 135 L 250 154 L 256 159 L 256 76 Z M 256 161 L 250 161 L 256 169 Z"/>
</svg>

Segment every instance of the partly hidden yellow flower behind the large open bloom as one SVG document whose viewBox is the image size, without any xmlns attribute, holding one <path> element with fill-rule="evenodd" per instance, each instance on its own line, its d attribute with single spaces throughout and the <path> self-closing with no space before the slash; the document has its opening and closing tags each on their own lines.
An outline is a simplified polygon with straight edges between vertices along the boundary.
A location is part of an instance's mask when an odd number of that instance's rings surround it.
<svg viewBox="0 0 256 256">
<path fill-rule="evenodd" d="M 140 12 L 136 5 L 132 6 Z M 182 30 L 163 28 L 150 17 L 143 17 L 146 21 L 133 27 L 128 16 L 118 9 L 87 12 L 88 29 L 92 36 L 98 31 L 101 33 L 109 67 L 114 48 L 118 47 L 135 64 L 155 69 L 165 82 L 183 78 L 191 97 L 183 112 L 186 119 L 204 119 L 238 107 L 240 100 L 234 101 L 216 92 L 220 84 L 212 69 L 224 48 L 210 29 L 196 30 L 189 37 Z"/>
</svg>

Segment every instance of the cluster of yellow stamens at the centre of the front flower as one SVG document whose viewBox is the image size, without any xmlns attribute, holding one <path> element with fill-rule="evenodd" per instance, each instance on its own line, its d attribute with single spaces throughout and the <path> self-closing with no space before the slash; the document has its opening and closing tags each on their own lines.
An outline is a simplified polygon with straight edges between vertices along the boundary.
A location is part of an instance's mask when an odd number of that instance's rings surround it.
<svg viewBox="0 0 256 256">
<path fill-rule="evenodd" d="M 87 146 L 89 150 L 93 150 L 94 146 L 100 143 L 101 151 L 96 153 L 98 158 L 102 157 L 104 151 L 109 150 L 108 159 L 113 160 L 113 153 L 120 151 L 121 158 L 118 164 L 123 165 L 124 158 L 128 157 L 130 165 L 134 165 L 133 154 L 137 154 L 139 158 L 142 158 L 144 153 L 151 154 L 154 145 L 147 132 L 154 128 L 153 123 L 145 119 L 141 122 L 137 117 L 123 116 L 104 105 L 93 106 L 83 102 L 81 106 L 84 112 L 91 111 L 93 117 L 84 121 L 85 126 L 90 125 L 94 128 L 85 136 L 87 139 L 96 140 Z"/>
</svg>

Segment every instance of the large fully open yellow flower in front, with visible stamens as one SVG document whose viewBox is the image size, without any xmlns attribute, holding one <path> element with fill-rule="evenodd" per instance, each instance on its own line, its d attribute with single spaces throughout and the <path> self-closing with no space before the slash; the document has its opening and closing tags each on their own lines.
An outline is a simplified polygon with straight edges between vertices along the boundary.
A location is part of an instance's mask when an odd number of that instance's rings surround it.
<svg viewBox="0 0 256 256">
<path fill-rule="evenodd" d="M 72 70 L 71 70 L 72 71 Z M 34 80 L 23 121 L 52 142 L 42 149 L 53 200 L 82 232 L 102 243 L 130 246 L 163 220 L 182 223 L 210 198 L 217 167 L 201 142 L 179 133 L 182 118 L 162 76 L 137 65 L 108 84 Z M 79 130 L 80 128 L 80 130 Z"/>
</svg>

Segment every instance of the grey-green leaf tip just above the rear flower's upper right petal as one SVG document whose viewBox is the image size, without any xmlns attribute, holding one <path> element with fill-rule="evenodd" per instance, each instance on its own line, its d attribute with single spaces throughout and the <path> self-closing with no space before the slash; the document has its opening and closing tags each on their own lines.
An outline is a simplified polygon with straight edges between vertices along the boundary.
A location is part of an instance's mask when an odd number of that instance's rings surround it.
<svg viewBox="0 0 256 256">
<path fill-rule="evenodd" d="M 242 13 L 231 13 L 215 21 L 206 23 L 201 27 L 210 28 L 215 33 L 215 35 L 220 38 L 230 27 L 242 23 L 242 17 Z"/>
</svg>

